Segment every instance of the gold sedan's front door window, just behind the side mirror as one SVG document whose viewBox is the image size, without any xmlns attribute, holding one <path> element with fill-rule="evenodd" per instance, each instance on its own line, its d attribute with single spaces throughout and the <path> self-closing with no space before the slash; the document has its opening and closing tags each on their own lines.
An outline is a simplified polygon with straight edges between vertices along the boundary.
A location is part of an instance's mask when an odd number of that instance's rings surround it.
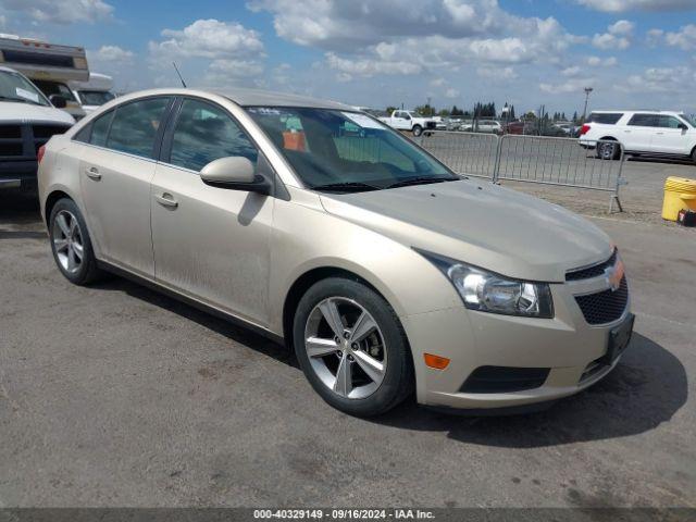
<svg viewBox="0 0 696 522">
<path fill-rule="evenodd" d="M 172 136 L 170 163 L 200 171 L 211 161 L 228 156 L 243 156 L 256 164 L 259 152 L 223 109 L 184 100 Z"/>
</svg>

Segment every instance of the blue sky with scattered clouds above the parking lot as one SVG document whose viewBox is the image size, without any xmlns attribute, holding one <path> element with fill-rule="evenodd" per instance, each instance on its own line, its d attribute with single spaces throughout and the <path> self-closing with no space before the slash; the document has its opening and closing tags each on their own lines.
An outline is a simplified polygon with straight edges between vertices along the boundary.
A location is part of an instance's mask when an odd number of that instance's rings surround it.
<svg viewBox="0 0 696 522">
<path fill-rule="evenodd" d="M 357 105 L 696 112 L 696 0 L 0 0 L 120 90 L 258 86 Z"/>
</svg>

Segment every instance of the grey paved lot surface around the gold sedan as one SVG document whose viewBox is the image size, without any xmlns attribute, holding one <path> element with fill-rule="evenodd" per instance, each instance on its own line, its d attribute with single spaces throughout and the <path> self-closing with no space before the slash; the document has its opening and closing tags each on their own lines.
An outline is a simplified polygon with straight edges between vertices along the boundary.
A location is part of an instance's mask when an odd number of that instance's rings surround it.
<svg viewBox="0 0 696 522">
<path fill-rule="evenodd" d="M 627 265 L 632 345 L 514 418 L 341 414 L 281 346 L 123 279 L 70 285 L 34 199 L 0 192 L 0 507 L 696 507 L 696 236 L 654 217 L 652 188 L 696 169 L 633 163 L 630 213 L 595 220 Z"/>
</svg>

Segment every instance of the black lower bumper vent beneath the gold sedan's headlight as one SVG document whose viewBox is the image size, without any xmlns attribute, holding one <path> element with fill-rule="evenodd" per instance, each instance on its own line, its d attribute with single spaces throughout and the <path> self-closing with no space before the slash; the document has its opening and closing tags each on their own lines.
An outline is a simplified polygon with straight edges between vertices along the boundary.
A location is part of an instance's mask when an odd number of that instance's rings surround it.
<svg viewBox="0 0 696 522">
<path fill-rule="evenodd" d="M 507 394 L 538 388 L 548 368 L 478 366 L 459 389 L 467 394 Z"/>
</svg>

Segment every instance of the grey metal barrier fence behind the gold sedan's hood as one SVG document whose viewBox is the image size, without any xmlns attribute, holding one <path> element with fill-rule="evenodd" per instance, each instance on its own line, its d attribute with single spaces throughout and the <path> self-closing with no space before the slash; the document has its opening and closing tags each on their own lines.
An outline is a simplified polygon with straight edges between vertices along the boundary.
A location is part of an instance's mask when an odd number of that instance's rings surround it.
<svg viewBox="0 0 696 522">
<path fill-rule="evenodd" d="M 609 212 L 614 201 L 623 210 L 624 154 L 617 141 L 434 132 L 420 145 L 457 174 L 604 190 L 611 192 Z"/>
</svg>

